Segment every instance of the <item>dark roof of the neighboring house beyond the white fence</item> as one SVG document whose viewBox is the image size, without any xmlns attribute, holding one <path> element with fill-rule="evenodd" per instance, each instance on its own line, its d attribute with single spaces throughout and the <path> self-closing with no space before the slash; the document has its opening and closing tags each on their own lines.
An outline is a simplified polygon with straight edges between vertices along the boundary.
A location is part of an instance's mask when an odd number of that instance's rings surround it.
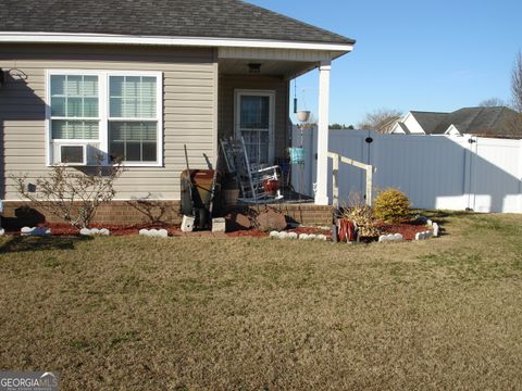
<svg viewBox="0 0 522 391">
<path fill-rule="evenodd" d="M 457 110 L 437 125 L 433 134 L 445 134 L 453 125 L 460 134 L 495 137 L 522 137 L 522 129 L 513 129 L 518 113 L 509 108 L 464 108 Z"/>
</svg>

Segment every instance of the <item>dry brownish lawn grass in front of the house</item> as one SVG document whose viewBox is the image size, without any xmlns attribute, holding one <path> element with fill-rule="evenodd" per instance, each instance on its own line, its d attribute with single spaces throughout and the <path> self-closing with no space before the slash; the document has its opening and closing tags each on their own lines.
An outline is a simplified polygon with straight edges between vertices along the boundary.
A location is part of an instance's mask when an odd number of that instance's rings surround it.
<svg viewBox="0 0 522 391">
<path fill-rule="evenodd" d="M 518 389 L 522 216 L 442 238 L 2 238 L 0 363 L 64 390 Z"/>
</svg>

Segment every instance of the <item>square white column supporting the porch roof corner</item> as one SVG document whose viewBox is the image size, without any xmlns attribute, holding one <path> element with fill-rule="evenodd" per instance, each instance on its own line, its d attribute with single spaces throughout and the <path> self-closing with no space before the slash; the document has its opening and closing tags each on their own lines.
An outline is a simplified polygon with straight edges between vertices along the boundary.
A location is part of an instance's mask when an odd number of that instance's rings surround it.
<svg viewBox="0 0 522 391">
<path fill-rule="evenodd" d="M 328 110 L 331 62 L 319 66 L 318 177 L 315 204 L 328 204 Z"/>
</svg>

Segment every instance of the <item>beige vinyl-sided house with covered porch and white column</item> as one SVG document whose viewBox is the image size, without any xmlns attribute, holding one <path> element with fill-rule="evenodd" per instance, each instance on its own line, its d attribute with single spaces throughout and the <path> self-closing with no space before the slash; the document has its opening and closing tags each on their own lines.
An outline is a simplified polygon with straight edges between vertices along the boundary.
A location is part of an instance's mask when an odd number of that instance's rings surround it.
<svg viewBox="0 0 522 391">
<path fill-rule="evenodd" d="M 98 153 L 107 163 L 124 157 L 113 211 L 150 193 L 176 207 L 184 144 L 191 167 L 215 166 L 219 139 L 232 135 L 245 138 L 258 163 L 284 159 L 289 81 L 314 68 L 315 203 L 327 204 L 331 64 L 353 49 L 352 39 L 238 0 L 2 5 L 0 198 L 7 210 L 21 201 L 10 175 L 36 179 L 63 155 L 87 166 Z M 77 146 L 85 147 L 71 148 Z"/>
</svg>

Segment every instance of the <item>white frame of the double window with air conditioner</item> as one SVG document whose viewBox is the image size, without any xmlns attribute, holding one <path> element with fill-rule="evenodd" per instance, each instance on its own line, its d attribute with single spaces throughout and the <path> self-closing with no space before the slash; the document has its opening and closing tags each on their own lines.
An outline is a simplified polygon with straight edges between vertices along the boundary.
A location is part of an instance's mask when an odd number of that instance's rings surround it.
<svg viewBox="0 0 522 391">
<path fill-rule="evenodd" d="M 86 121 L 99 121 L 98 139 L 66 139 L 52 140 L 51 135 L 51 76 L 55 75 L 85 75 L 98 76 L 98 118 L 78 118 Z M 157 128 L 157 161 L 156 162 L 122 162 L 126 167 L 162 167 L 163 166 L 163 73 L 151 71 L 98 71 L 98 70 L 47 70 L 46 71 L 46 163 L 52 166 L 51 144 L 79 144 L 98 143 L 99 149 L 105 154 L 102 162 L 109 165 L 109 77 L 110 76 L 142 76 L 156 77 L 156 122 Z M 112 121 L 154 121 L 152 118 L 111 118 Z"/>
</svg>

